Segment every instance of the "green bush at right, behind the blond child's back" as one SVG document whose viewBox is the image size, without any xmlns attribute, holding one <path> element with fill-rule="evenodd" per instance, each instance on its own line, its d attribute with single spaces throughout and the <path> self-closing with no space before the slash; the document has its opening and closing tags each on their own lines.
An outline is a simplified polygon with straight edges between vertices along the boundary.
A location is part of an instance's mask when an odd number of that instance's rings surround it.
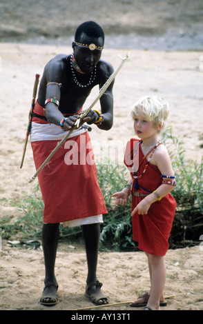
<svg viewBox="0 0 203 324">
<path fill-rule="evenodd" d="M 177 186 L 172 194 L 177 202 L 169 244 L 171 248 L 200 244 L 203 230 L 203 157 L 201 163 L 185 161 L 182 140 L 166 129 L 163 141 L 171 155 Z"/>
</svg>

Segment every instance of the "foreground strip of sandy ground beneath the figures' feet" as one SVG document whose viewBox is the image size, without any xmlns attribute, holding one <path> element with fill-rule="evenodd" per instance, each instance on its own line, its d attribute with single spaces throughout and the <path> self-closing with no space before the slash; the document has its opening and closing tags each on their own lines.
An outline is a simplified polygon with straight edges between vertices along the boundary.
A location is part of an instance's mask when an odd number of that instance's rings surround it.
<svg viewBox="0 0 203 324">
<path fill-rule="evenodd" d="M 168 250 L 165 296 L 162 310 L 202 310 L 202 252 L 199 247 Z M 80 310 L 92 306 L 84 296 L 86 255 L 83 250 L 59 247 L 56 274 L 59 303 L 54 307 L 39 304 L 43 283 L 41 251 L 3 247 L 1 252 L 0 310 Z M 132 301 L 148 290 L 148 266 L 143 252 L 99 253 L 98 278 L 110 303 Z M 136 312 L 129 303 L 99 307 L 97 310 Z"/>
</svg>

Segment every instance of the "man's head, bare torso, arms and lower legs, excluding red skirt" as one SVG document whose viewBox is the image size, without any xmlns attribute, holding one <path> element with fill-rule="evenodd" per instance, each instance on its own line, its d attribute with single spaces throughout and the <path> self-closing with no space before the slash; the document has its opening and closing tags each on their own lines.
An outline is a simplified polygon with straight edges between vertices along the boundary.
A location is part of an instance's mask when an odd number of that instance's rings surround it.
<svg viewBox="0 0 203 324">
<path fill-rule="evenodd" d="M 113 73 L 112 65 L 101 60 L 103 47 L 104 33 L 97 23 L 87 21 L 77 28 L 75 41 L 72 43 L 73 53 L 68 56 L 66 54 L 57 55 L 44 68 L 37 105 L 34 110 L 37 114 L 35 114 L 33 120 L 37 121 L 37 117 L 44 118 L 39 116 L 43 115 L 37 110 L 39 106 L 46 112 L 48 123 L 55 124 L 65 131 L 71 130 L 72 126 L 75 125 L 75 121 L 79 118 L 78 112 L 84 105 L 90 91 L 95 85 L 99 85 L 99 88 L 101 88 L 110 77 L 110 74 Z M 89 125 L 96 123 L 94 127 L 97 125 L 101 130 L 110 130 L 113 125 L 113 83 L 109 85 L 106 92 L 101 96 L 100 105 L 101 115 L 98 115 L 98 111 L 90 110 L 82 123 L 87 122 Z M 67 118 L 64 119 L 64 116 Z M 98 123 L 98 120 L 101 122 Z M 33 130 L 34 126 L 32 126 Z M 33 145 L 38 143 L 32 142 L 32 132 L 30 139 Z M 43 149 L 41 148 L 41 150 Z M 35 159 L 36 153 L 34 150 L 33 154 Z M 66 183 L 68 183 L 68 175 Z M 40 181 L 39 185 L 41 187 Z M 57 194 L 57 188 L 55 190 Z M 43 196 L 42 188 L 41 192 Z M 68 201 L 68 205 L 70 204 L 72 202 Z M 88 205 L 90 204 L 91 201 L 88 201 Z M 67 207 L 67 214 L 68 205 L 66 206 L 66 203 L 64 203 L 64 207 Z M 42 245 L 46 270 L 45 287 L 41 296 L 41 304 L 43 305 L 55 305 L 57 303 L 58 285 L 55 278 L 55 259 L 59 239 L 59 223 L 61 221 L 57 220 L 50 223 L 44 221 L 43 223 Z M 90 298 L 90 301 L 97 305 L 106 304 L 108 303 L 108 297 L 101 292 L 102 284 L 97 281 L 96 274 L 100 223 L 93 222 L 82 225 L 82 230 L 88 265 L 86 295 Z"/>
</svg>

